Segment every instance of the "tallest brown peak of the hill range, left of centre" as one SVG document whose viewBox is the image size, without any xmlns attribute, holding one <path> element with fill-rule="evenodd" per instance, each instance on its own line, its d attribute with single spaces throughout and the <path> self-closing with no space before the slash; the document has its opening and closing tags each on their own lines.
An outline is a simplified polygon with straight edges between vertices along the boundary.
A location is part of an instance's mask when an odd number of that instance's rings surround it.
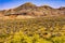
<svg viewBox="0 0 65 43">
<path fill-rule="evenodd" d="M 27 3 L 24 3 L 24 4 L 20 5 L 18 8 L 16 8 L 15 11 L 29 10 L 29 9 L 35 9 L 35 8 L 37 8 L 37 5 L 35 5 L 30 2 L 27 2 Z"/>
</svg>

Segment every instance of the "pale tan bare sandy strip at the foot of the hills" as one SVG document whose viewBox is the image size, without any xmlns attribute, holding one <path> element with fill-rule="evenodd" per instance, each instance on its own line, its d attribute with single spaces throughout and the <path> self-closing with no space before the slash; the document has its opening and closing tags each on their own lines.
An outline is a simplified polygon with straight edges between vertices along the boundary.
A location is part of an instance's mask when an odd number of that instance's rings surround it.
<svg viewBox="0 0 65 43">
<path fill-rule="evenodd" d="M 18 15 L 16 17 L 12 17 L 12 16 L 0 16 L 0 19 L 26 19 L 26 18 L 35 18 L 35 16 L 23 16 L 23 15 Z"/>
</svg>

